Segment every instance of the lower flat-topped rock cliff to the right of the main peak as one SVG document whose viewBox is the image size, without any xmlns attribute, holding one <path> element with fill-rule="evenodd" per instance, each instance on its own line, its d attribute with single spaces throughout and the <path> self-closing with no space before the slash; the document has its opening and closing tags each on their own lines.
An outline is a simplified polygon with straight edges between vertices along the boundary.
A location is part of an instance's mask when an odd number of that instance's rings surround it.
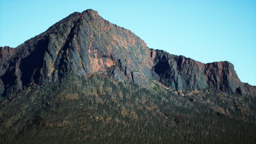
<svg viewBox="0 0 256 144">
<path fill-rule="evenodd" d="M 255 86 L 242 83 L 234 65 L 227 61 L 204 64 L 184 56 L 156 50 L 153 69 L 160 82 L 176 90 L 210 87 L 225 92 L 252 95 L 252 89 L 256 89 Z"/>
</svg>

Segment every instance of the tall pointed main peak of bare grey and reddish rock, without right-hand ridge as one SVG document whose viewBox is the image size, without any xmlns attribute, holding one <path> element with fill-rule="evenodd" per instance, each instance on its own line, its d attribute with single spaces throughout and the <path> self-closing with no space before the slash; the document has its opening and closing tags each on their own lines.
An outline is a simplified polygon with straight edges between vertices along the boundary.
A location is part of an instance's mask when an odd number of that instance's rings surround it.
<svg viewBox="0 0 256 144">
<path fill-rule="evenodd" d="M 69 15 L 16 49 L 6 66 L 1 65 L 3 95 L 30 83 L 62 79 L 69 72 L 85 76 L 108 71 L 116 79 L 145 85 L 153 65 L 143 40 L 91 9 Z"/>
</svg>

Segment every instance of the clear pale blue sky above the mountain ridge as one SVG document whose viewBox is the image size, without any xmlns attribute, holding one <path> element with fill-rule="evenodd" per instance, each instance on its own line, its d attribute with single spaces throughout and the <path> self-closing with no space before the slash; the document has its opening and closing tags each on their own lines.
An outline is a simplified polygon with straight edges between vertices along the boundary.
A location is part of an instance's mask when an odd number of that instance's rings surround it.
<svg viewBox="0 0 256 144">
<path fill-rule="evenodd" d="M 0 0 L 0 46 L 16 47 L 74 11 L 97 10 L 153 49 L 203 63 L 229 61 L 256 85 L 256 1 Z"/>
</svg>

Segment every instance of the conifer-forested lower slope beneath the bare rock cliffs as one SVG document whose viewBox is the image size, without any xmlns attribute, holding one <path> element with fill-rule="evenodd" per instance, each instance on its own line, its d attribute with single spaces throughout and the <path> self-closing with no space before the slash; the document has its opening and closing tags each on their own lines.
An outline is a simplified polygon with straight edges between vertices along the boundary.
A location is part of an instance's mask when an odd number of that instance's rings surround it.
<svg viewBox="0 0 256 144">
<path fill-rule="evenodd" d="M 224 96 L 68 76 L 1 98 L 0 143 L 254 143 L 254 98 Z"/>
</svg>

